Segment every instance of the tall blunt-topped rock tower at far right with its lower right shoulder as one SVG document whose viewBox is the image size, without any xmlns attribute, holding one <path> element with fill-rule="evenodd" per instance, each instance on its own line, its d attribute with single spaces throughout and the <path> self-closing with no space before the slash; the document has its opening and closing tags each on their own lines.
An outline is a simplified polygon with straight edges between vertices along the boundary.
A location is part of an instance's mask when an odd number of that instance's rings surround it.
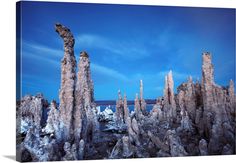
<svg viewBox="0 0 236 163">
<path fill-rule="evenodd" d="M 203 126 L 205 136 L 209 139 L 208 152 L 217 154 L 222 151 L 226 143 L 233 144 L 233 127 L 231 125 L 228 100 L 232 97 L 232 85 L 229 90 L 218 86 L 214 82 L 211 55 L 203 53 L 202 66 L 202 96 L 203 96 Z M 228 93 L 227 93 L 228 91 Z M 230 93 L 231 91 L 231 93 Z M 231 95 L 230 95 L 231 94 Z M 229 100 L 230 101 L 230 100 Z M 232 106 L 233 107 L 233 106 Z"/>
</svg>

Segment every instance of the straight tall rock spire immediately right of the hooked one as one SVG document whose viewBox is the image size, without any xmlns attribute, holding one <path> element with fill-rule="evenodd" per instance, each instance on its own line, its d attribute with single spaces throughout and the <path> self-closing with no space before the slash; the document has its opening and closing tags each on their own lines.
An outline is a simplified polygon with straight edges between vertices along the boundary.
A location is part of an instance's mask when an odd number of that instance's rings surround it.
<svg viewBox="0 0 236 163">
<path fill-rule="evenodd" d="M 77 144 L 79 144 L 80 139 L 85 142 L 92 142 L 95 136 L 94 132 L 98 129 L 90 61 L 85 51 L 80 53 L 78 68 L 73 115 L 74 134 Z"/>
</svg>

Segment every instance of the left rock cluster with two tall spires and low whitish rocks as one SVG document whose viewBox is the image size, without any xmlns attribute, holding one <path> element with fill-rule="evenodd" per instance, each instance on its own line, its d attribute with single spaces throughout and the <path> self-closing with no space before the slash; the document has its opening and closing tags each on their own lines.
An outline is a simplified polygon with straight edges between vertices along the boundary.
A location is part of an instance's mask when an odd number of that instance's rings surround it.
<svg viewBox="0 0 236 163">
<path fill-rule="evenodd" d="M 25 96 L 17 106 L 17 121 L 21 121 L 17 126 L 21 144 L 17 149 L 30 153 L 28 159 L 33 161 L 83 159 L 85 148 L 98 134 L 89 56 L 81 52 L 76 77 L 73 34 L 61 24 L 56 24 L 55 29 L 64 42 L 59 107 L 55 101 L 49 107 L 47 104 L 45 118 L 46 101 L 42 95 Z M 20 134 L 26 136 L 22 138 Z M 18 155 L 21 157 L 22 153 Z"/>
</svg>

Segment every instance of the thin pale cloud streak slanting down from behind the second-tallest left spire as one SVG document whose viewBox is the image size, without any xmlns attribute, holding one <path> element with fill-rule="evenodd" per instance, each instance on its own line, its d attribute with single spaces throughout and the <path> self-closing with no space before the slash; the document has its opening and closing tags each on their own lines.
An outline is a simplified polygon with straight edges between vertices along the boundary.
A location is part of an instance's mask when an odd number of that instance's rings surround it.
<svg viewBox="0 0 236 163">
<path fill-rule="evenodd" d="M 129 81 L 129 79 L 122 73 L 112 69 L 112 68 L 108 68 L 105 66 L 101 66 L 95 63 L 91 63 L 91 69 L 93 72 L 98 72 L 98 73 L 102 73 L 104 75 L 107 75 L 109 77 L 112 78 L 116 78 L 122 81 Z"/>
</svg>

